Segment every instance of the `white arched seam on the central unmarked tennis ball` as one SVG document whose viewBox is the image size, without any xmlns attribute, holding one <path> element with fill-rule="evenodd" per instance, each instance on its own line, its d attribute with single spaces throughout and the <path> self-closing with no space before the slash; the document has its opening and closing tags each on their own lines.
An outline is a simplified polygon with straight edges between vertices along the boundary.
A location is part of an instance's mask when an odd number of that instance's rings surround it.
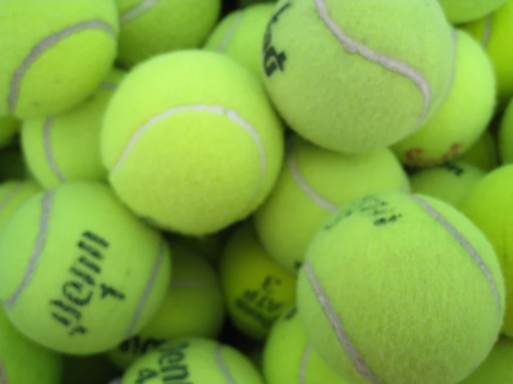
<svg viewBox="0 0 513 384">
<path fill-rule="evenodd" d="M 251 137 L 253 138 L 253 141 L 255 141 L 255 144 L 258 147 L 258 151 L 260 152 L 260 180 L 258 181 L 258 185 L 255 188 L 255 192 L 253 193 L 253 196 L 249 200 L 249 202 L 253 202 L 253 200 L 258 195 L 258 191 L 262 187 L 262 184 L 264 184 L 264 177 L 265 173 L 267 172 L 267 164 L 265 162 L 265 152 L 264 152 L 264 145 L 262 144 L 262 141 L 260 140 L 260 137 L 258 136 L 258 133 L 256 132 L 255 128 L 246 120 L 242 119 L 237 112 L 233 110 L 226 110 L 224 107 L 221 107 L 221 105 L 186 105 L 183 107 L 174 107 L 171 108 L 165 112 L 162 112 L 161 114 L 158 114 L 157 116 L 154 116 L 152 119 L 150 119 L 148 122 L 144 123 L 141 128 L 139 128 L 135 134 L 131 137 L 130 141 L 128 142 L 128 145 L 126 146 L 125 150 L 121 154 L 121 157 L 119 157 L 119 160 L 117 164 L 112 168 L 112 171 L 110 171 L 111 175 L 114 175 L 121 165 L 126 160 L 126 157 L 128 156 L 128 153 L 132 150 L 133 146 L 137 142 L 137 140 L 140 139 L 142 134 L 146 132 L 146 130 L 149 130 L 149 128 L 153 127 L 153 125 L 159 123 L 160 121 L 166 119 L 169 116 L 172 116 L 174 114 L 178 114 L 180 112 L 190 112 L 190 111 L 196 111 L 196 112 L 210 112 L 213 114 L 218 114 L 220 116 L 227 116 L 228 119 L 231 121 L 237 123 L 241 128 L 243 128 L 246 132 L 248 132 Z"/>
</svg>

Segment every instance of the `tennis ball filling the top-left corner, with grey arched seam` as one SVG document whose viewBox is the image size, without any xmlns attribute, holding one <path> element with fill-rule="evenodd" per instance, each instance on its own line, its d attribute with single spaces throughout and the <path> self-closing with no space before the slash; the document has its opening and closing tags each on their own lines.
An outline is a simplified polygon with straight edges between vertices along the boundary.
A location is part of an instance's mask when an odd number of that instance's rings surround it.
<svg viewBox="0 0 513 384">
<path fill-rule="evenodd" d="M 94 93 L 115 60 L 112 0 L 5 0 L 0 21 L 0 116 L 65 112 Z"/>
</svg>

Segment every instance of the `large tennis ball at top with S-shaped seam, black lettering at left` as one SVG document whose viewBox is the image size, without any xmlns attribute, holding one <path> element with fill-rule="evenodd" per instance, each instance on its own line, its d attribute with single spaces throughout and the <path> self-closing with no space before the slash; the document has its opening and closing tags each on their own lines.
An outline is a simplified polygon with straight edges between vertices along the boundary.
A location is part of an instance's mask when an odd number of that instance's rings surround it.
<svg viewBox="0 0 513 384">
<path fill-rule="evenodd" d="M 263 45 L 278 112 L 305 139 L 339 152 L 412 134 L 453 76 L 452 28 L 432 0 L 281 0 Z"/>
</svg>

